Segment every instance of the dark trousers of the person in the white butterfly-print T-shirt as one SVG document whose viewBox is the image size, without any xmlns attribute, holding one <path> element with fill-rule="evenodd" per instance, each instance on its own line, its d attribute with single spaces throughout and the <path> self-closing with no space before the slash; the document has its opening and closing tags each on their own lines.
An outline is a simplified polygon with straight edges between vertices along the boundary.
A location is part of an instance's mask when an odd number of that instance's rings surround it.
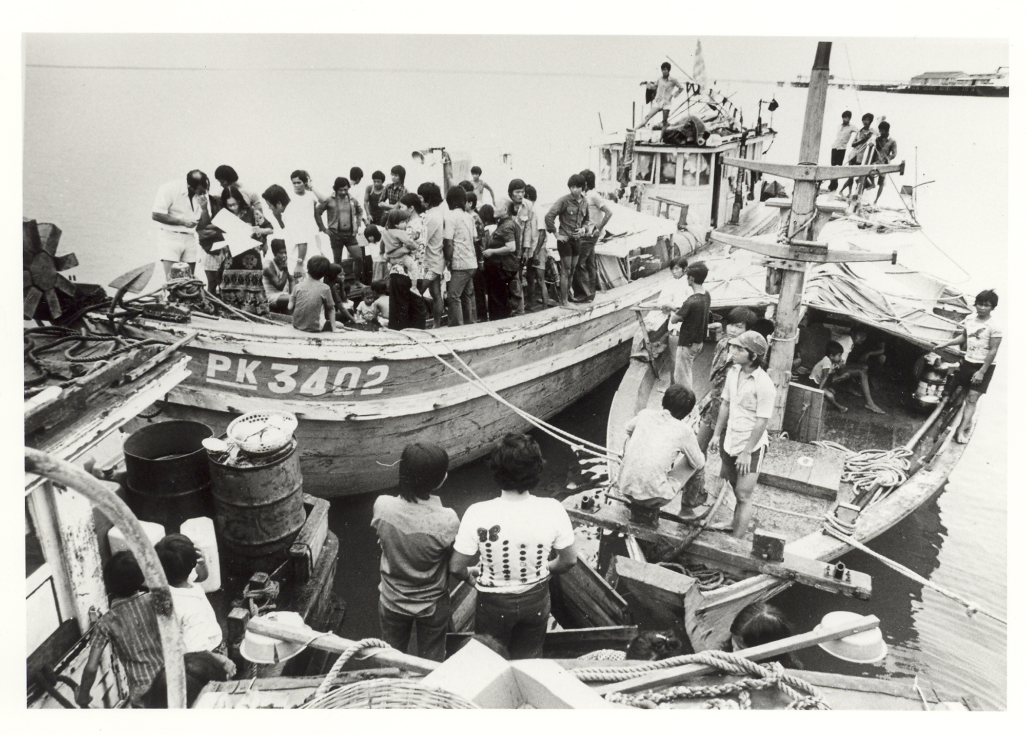
<svg viewBox="0 0 1026 735">
<path fill-rule="evenodd" d="M 496 639 L 511 659 L 541 658 L 550 612 L 548 581 L 520 594 L 478 590 L 474 632 Z"/>
</svg>

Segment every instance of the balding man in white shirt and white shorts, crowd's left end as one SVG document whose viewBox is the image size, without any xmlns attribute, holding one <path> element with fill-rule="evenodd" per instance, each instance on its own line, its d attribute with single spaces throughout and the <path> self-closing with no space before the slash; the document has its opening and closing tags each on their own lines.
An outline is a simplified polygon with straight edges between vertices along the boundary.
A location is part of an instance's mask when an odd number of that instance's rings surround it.
<svg viewBox="0 0 1026 735">
<path fill-rule="evenodd" d="M 164 275 L 171 272 L 175 263 L 188 263 L 190 272 L 196 272 L 199 249 L 196 225 L 205 207 L 210 180 L 206 173 L 194 168 L 184 181 L 164 184 L 157 190 L 153 202 L 153 221 L 158 224 L 157 255 L 164 264 Z"/>
</svg>

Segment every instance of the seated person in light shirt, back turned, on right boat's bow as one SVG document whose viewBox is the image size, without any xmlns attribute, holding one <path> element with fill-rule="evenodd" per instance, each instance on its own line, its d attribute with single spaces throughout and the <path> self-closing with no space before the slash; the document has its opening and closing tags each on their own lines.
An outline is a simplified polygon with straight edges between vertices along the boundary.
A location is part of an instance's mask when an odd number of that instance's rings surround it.
<svg viewBox="0 0 1026 735">
<path fill-rule="evenodd" d="M 620 492 L 639 505 L 662 507 L 705 466 L 698 437 L 684 419 L 695 408 L 690 388 L 673 384 L 663 409 L 642 409 L 627 422 L 627 443 L 620 469 Z"/>
</svg>

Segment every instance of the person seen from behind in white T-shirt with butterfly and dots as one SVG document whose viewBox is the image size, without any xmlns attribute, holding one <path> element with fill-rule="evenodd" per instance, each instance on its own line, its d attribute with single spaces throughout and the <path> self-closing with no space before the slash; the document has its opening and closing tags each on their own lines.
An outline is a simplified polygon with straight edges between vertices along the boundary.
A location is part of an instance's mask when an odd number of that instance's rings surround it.
<svg viewBox="0 0 1026 735">
<path fill-rule="evenodd" d="M 545 466 L 534 438 L 506 434 L 488 465 L 501 495 L 467 508 L 449 570 L 477 589 L 475 632 L 492 635 L 514 659 L 540 658 L 549 578 L 577 564 L 574 528 L 558 500 L 530 494 Z"/>
</svg>

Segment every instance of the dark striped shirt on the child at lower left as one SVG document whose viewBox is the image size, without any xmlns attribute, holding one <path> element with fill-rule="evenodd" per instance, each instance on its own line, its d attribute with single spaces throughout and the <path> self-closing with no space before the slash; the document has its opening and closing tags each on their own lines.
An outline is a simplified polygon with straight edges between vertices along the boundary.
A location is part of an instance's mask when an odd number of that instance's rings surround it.
<svg viewBox="0 0 1026 735">
<path fill-rule="evenodd" d="M 124 666 L 129 699 L 134 706 L 141 706 L 143 695 L 164 667 L 154 606 L 154 597 L 149 592 L 115 599 L 110 612 L 101 617 L 93 628 L 92 645 L 103 648 L 111 644 L 114 655 Z"/>
</svg>

